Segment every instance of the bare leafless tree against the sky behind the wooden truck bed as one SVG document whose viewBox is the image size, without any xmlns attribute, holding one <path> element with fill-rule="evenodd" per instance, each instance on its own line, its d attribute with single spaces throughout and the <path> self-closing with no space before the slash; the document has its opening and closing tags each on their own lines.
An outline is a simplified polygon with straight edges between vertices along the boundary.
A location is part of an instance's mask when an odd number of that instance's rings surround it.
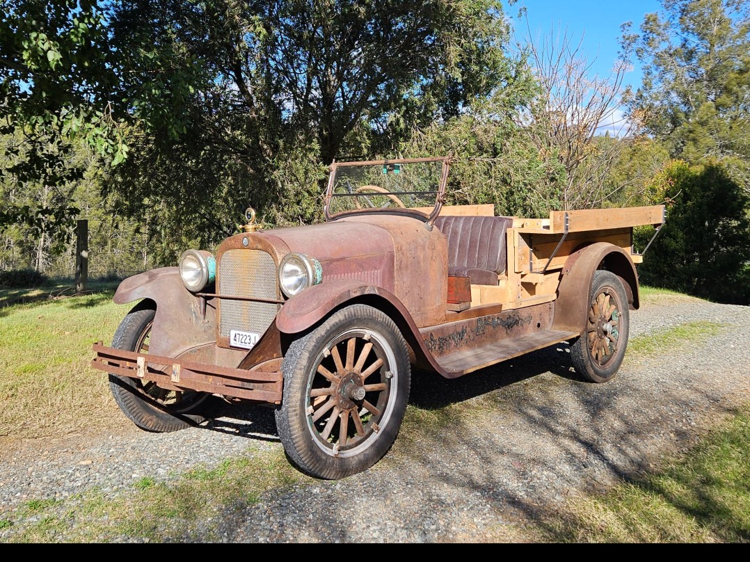
<svg viewBox="0 0 750 562">
<path fill-rule="evenodd" d="M 619 115 L 625 61 L 599 76 L 595 59 L 581 49 L 583 37 L 576 41 L 567 29 L 532 37 L 526 26 L 520 49 L 529 53 L 539 90 L 520 124 L 539 154 L 565 169 L 562 208 L 601 207 L 623 187 L 613 185 L 609 171 L 633 140 L 632 117 Z"/>
</svg>

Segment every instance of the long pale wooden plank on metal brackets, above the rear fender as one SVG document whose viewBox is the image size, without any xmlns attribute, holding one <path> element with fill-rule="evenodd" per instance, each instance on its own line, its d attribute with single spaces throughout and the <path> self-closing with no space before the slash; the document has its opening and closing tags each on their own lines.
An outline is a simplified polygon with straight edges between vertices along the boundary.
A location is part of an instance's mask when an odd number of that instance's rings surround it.
<svg viewBox="0 0 750 562">
<path fill-rule="evenodd" d="M 568 214 L 568 232 L 621 229 L 631 226 L 661 224 L 664 217 L 664 205 L 552 211 L 550 213 L 550 226 L 553 232 L 563 232 L 565 229 L 565 213 Z"/>
</svg>

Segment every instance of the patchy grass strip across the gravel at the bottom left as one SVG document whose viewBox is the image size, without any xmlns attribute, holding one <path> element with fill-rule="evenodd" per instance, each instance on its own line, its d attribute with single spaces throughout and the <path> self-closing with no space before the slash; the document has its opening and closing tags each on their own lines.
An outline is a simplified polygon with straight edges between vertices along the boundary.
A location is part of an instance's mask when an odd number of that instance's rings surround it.
<svg viewBox="0 0 750 562">
<path fill-rule="evenodd" d="M 257 504 L 270 491 L 317 482 L 303 476 L 280 450 L 248 451 L 214 470 L 196 469 L 176 483 L 142 478 L 132 494 L 108 499 L 97 491 L 70 501 L 29 501 L 0 529 L 6 543 L 107 543 L 118 537 L 151 543 L 218 540 L 222 514 Z"/>
</svg>

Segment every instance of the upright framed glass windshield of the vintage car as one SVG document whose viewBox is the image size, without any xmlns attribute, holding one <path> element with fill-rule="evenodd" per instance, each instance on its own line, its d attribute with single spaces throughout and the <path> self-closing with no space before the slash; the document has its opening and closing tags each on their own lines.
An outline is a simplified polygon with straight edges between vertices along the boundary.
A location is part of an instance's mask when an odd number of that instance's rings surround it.
<svg viewBox="0 0 750 562">
<path fill-rule="evenodd" d="M 431 218 L 445 192 L 447 158 L 334 163 L 326 218 L 364 211 L 419 211 Z"/>
</svg>

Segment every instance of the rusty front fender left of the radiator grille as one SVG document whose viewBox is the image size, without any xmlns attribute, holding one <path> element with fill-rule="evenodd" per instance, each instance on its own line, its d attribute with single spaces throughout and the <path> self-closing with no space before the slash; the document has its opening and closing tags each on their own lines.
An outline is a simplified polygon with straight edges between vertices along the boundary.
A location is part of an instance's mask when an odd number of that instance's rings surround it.
<svg viewBox="0 0 750 562">
<path fill-rule="evenodd" d="M 184 287 L 178 268 L 157 268 L 128 277 L 120 283 L 113 297 L 117 304 L 139 299 L 152 300 L 156 308 L 149 353 L 178 357 L 191 348 L 215 341 L 213 301 L 207 300 L 205 312 L 202 312 L 201 298 Z"/>
</svg>

